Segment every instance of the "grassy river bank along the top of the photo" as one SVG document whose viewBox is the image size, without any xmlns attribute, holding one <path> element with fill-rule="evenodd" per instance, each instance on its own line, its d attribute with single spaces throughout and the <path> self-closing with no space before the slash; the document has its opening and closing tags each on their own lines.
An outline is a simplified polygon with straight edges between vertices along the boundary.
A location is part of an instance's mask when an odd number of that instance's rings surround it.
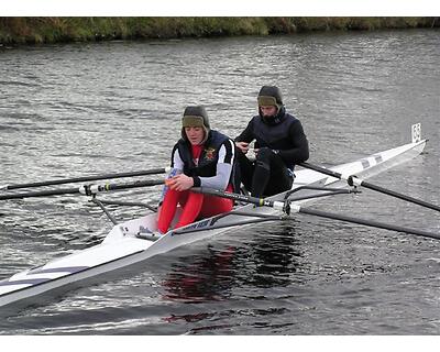
<svg viewBox="0 0 440 352">
<path fill-rule="evenodd" d="M 0 18 L 0 44 L 438 26 L 439 18 Z"/>
</svg>

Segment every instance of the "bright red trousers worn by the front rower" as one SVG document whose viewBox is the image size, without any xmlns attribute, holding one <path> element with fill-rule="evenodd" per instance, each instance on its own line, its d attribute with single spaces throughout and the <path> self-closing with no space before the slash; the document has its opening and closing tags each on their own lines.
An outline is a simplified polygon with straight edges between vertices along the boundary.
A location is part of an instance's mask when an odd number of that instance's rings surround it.
<svg viewBox="0 0 440 352">
<path fill-rule="evenodd" d="M 232 191 L 231 185 L 228 186 L 227 191 Z M 157 229 L 162 233 L 168 231 L 176 215 L 177 204 L 183 207 L 183 212 L 175 227 L 176 229 L 194 222 L 197 218 L 209 218 L 231 211 L 233 207 L 232 199 L 206 196 L 190 190 L 178 191 L 168 189 L 157 219 Z"/>
</svg>

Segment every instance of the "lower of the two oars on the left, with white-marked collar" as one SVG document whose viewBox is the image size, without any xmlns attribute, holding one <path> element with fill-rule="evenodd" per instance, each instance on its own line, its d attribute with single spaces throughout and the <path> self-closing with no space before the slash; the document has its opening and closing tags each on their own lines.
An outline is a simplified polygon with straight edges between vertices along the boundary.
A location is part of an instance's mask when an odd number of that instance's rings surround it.
<svg viewBox="0 0 440 352">
<path fill-rule="evenodd" d="M 28 191 L 28 193 L 19 193 L 19 194 L 10 194 L 10 195 L 0 195 L 0 200 L 9 200 L 9 199 L 22 199 L 22 198 L 31 198 L 31 197 L 46 197 L 46 196 L 57 196 L 57 195 L 75 195 L 81 194 L 86 196 L 92 196 L 102 191 L 118 190 L 118 189 L 129 189 L 136 187 L 150 187 L 156 185 L 163 185 L 163 179 L 148 179 L 142 182 L 135 182 L 130 184 L 105 184 L 105 185 L 85 185 L 80 187 L 74 188 L 59 188 L 59 189 L 47 189 L 40 191 Z"/>
</svg>

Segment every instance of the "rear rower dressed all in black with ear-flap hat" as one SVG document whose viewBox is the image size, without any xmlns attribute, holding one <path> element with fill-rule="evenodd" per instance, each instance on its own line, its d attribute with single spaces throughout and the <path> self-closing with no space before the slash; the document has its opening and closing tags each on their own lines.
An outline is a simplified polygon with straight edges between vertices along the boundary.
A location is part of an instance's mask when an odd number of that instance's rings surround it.
<svg viewBox="0 0 440 352">
<path fill-rule="evenodd" d="M 292 188 L 295 164 L 309 157 L 309 146 L 298 119 L 286 112 L 283 97 L 275 86 L 258 92 L 258 114 L 235 139 L 241 182 L 254 197 L 266 197 Z M 256 160 L 245 154 L 255 140 Z"/>
</svg>

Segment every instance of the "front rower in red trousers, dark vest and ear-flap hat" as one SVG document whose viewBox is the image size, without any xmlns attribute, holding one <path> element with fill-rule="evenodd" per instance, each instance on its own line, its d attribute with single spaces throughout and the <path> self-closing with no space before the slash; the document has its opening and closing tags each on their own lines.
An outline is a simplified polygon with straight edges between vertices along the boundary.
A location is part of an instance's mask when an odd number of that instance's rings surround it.
<svg viewBox="0 0 440 352">
<path fill-rule="evenodd" d="M 182 139 L 172 154 L 172 173 L 166 180 L 164 198 L 157 219 L 157 229 L 166 233 L 176 213 L 183 212 L 175 228 L 232 210 L 233 201 L 189 190 L 209 187 L 232 191 L 231 175 L 234 165 L 234 143 L 227 135 L 210 130 L 204 107 L 187 107 L 182 119 Z"/>
</svg>

